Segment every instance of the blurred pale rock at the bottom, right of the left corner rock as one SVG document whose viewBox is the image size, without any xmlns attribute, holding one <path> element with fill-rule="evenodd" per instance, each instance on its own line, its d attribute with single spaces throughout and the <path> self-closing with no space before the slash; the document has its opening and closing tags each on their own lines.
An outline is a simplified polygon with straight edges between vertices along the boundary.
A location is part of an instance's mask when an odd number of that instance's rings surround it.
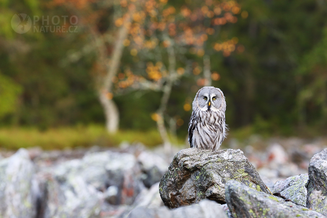
<svg viewBox="0 0 327 218">
<path fill-rule="evenodd" d="M 93 218 L 99 215 L 102 196 L 82 176 L 68 175 L 65 181 L 48 180 L 45 201 L 45 218 Z"/>
</svg>

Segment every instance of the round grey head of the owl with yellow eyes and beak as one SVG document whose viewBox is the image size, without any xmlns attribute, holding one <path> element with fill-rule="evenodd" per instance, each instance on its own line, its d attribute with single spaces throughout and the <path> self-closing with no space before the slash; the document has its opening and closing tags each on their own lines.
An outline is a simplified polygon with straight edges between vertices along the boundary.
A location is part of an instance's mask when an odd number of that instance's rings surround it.
<svg viewBox="0 0 327 218">
<path fill-rule="evenodd" d="M 226 111 L 225 96 L 219 88 L 206 86 L 201 88 L 196 94 L 192 103 L 193 111 Z"/>
</svg>

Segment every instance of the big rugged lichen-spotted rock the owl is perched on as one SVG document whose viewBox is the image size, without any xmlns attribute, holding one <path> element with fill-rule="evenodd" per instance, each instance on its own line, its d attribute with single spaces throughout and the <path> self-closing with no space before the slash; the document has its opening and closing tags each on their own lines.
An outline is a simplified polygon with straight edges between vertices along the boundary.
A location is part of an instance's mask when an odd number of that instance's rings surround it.
<svg viewBox="0 0 327 218">
<path fill-rule="evenodd" d="M 170 208 L 211 199 L 225 203 L 225 184 L 235 179 L 268 193 L 258 172 L 240 150 L 206 151 L 196 148 L 178 152 L 159 185 L 164 204 Z"/>
</svg>

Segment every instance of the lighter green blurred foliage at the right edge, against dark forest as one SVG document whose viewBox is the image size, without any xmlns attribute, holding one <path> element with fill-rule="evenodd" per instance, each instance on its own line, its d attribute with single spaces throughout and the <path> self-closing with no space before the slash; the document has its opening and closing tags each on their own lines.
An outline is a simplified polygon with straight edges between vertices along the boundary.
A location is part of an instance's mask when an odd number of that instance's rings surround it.
<svg viewBox="0 0 327 218">
<path fill-rule="evenodd" d="M 320 42 L 303 57 L 298 69 L 301 91 L 298 95 L 302 124 L 324 127 L 327 121 L 327 28 Z M 311 119 L 311 120 L 309 120 Z"/>
</svg>

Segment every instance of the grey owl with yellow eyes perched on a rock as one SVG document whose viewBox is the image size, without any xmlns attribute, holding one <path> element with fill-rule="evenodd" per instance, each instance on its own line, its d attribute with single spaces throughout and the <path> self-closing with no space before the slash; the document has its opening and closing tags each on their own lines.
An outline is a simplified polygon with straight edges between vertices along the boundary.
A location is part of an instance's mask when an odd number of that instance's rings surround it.
<svg viewBox="0 0 327 218">
<path fill-rule="evenodd" d="M 226 137 L 226 101 L 222 90 L 213 86 L 203 87 L 192 103 L 189 124 L 191 148 L 218 150 Z"/>
</svg>

